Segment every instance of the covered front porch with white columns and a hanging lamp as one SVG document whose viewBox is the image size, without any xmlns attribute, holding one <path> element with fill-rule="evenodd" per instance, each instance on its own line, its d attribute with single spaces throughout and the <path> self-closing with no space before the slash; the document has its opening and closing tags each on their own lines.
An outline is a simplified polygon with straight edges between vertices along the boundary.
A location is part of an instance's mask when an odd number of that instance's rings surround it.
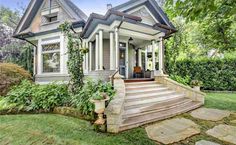
<svg viewBox="0 0 236 145">
<path fill-rule="evenodd" d="M 99 24 L 89 34 L 84 32 L 87 35 L 84 46 L 89 48 L 84 58 L 85 75 L 90 77 L 104 72 L 99 78 L 105 80 L 109 80 L 115 71 L 119 71 L 124 79 L 162 75 L 164 32 L 163 28 L 126 19 L 113 21 L 110 25 Z"/>
</svg>

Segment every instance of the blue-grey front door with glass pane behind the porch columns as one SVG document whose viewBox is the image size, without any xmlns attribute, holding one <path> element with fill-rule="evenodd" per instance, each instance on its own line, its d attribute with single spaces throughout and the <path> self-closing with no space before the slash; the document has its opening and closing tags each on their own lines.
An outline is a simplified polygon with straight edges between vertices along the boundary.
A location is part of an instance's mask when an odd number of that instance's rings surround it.
<svg viewBox="0 0 236 145">
<path fill-rule="evenodd" d="M 126 43 L 120 43 L 119 67 L 120 74 L 126 77 Z"/>
</svg>

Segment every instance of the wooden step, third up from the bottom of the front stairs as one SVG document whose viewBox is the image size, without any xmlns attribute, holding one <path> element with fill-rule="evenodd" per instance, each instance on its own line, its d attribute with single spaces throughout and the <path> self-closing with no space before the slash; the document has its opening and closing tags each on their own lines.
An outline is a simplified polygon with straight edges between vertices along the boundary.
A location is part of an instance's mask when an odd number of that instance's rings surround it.
<svg viewBox="0 0 236 145">
<path fill-rule="evenodd" d="M 169 102 L 169 101 L 184 98 L 184 97 L 185 97 L 184 94 L 165 95 L 161 97 L 145 99 L 145 100 L 140 100 L 140 101 L 126 102 L 124 106 L 125 106 L 125 110 L 127 110 L 127 109 L 132 109 L 132 108 L 150 106 L 157 103 Z"/>
</svg>

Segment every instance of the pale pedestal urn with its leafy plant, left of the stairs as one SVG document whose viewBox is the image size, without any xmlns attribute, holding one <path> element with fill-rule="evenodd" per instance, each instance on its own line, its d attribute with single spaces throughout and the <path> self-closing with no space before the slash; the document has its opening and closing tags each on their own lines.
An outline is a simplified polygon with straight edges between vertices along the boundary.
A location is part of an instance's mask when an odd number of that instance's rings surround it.
<svg viewBox="0 0 236 145">
<path fill-rule="evenodd" d="M 101 93 L 97 91 L 93 94 L 91 102 L 95 105 L 95 112 L 98 114 L 98 119 L 95 121 L 95 124 L 102 125 L 105 123 L 105 119 L 103 118 L 103 113 L 105 111 L 105 103 L 110 98 L 106 93 Z"/>
</svg>

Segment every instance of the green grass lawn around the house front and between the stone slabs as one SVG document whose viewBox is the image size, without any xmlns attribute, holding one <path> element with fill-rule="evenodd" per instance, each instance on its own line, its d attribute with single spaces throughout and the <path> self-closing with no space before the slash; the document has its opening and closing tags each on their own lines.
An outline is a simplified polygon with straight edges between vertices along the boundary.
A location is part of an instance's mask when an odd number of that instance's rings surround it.
<svg viewBox="0 0 236 145">
<path fill-rule="evenodd" d="M 208 94 L 206 107 L 236 110 L 236 94 Z M 186 113 L 182 117 L 189 118 L 190 115 Z M 194 121 L 203 126 L 204 131 L 215 125 L 200 120 Z M 229 123 L 228 120 L 224 121 Z M 203 138 L 214 140 L 203 133 L 176 145 L 194 144 Z M 0 116 L 0 145 L 2 144 L 154 145 L 156 143 L 148 139 L 144 127 L 113 135 L 97 133 L 89 122 L 77 118 L 40 114 Z"/>
</svg>

